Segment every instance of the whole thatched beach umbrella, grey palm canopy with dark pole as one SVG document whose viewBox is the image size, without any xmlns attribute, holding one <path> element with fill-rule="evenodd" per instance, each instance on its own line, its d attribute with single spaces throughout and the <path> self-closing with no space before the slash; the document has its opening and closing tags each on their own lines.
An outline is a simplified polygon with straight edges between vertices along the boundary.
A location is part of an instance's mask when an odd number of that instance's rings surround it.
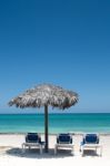
<svg viewBox="0 0 110 166">
<path fill-rule="evenodd" d="M 51 84 L 38 85 L 14 97 L 9 105 L 17 107 L 44 107 L 44 138 L 48 152 L 48 106 L 68 108 L 78 102 L 78 94 Z"/>
</svg>

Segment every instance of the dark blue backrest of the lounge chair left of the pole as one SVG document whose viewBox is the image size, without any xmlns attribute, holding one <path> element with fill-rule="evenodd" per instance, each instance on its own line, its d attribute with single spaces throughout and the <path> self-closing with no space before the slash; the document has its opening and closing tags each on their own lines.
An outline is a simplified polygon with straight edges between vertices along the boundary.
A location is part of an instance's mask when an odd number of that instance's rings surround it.
<svg viewBox="0 0 110 166">
<path fill-rule="evenodd" d="M 26 143 L 41 143 L 41 137 L 37 133 L 28 133 Z"/>
</svg>

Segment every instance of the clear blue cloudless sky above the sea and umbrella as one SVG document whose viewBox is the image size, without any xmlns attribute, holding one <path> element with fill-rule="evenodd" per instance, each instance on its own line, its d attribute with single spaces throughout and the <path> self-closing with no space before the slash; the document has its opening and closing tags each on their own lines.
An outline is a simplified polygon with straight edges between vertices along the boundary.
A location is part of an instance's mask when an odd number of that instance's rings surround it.
<svg viewBox="0 0 110 166">
<path fill-rule="evenodd" d="M 0 1 L 0 113 L 40 83 L 76 91 L 70 112 L 110 113 L 109 0 Z"/>
</svg>

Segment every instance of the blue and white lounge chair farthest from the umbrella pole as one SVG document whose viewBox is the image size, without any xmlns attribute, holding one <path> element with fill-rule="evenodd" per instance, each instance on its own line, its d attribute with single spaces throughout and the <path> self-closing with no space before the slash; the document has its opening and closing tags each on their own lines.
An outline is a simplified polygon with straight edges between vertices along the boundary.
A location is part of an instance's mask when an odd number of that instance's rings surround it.
<svg viewBox="0 0 110 166">
<path fill-rule="evenodd" d="M 100 148 L 100 156 L 102 156 L 102 146 L 99 142 L 98 134 L 86 134 L 80 145 L 80 152 L 82 152 L 83 155 L 84 149 L 94 149 L 97 153 L 97 149 Z"/>
</svg>

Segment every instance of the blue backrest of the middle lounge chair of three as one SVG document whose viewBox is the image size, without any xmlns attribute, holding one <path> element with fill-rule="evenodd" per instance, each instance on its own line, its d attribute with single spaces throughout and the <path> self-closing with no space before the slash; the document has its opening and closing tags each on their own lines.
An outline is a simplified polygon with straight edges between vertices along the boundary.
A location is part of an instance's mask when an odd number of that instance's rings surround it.
<svg viewBox="0 0 110 166">
<path fill-rule="evenodd" d="M 72 144 L 72 136 L 70 134 L 59 134 L 57 137 L 58 144 Z"/>
</svg>

